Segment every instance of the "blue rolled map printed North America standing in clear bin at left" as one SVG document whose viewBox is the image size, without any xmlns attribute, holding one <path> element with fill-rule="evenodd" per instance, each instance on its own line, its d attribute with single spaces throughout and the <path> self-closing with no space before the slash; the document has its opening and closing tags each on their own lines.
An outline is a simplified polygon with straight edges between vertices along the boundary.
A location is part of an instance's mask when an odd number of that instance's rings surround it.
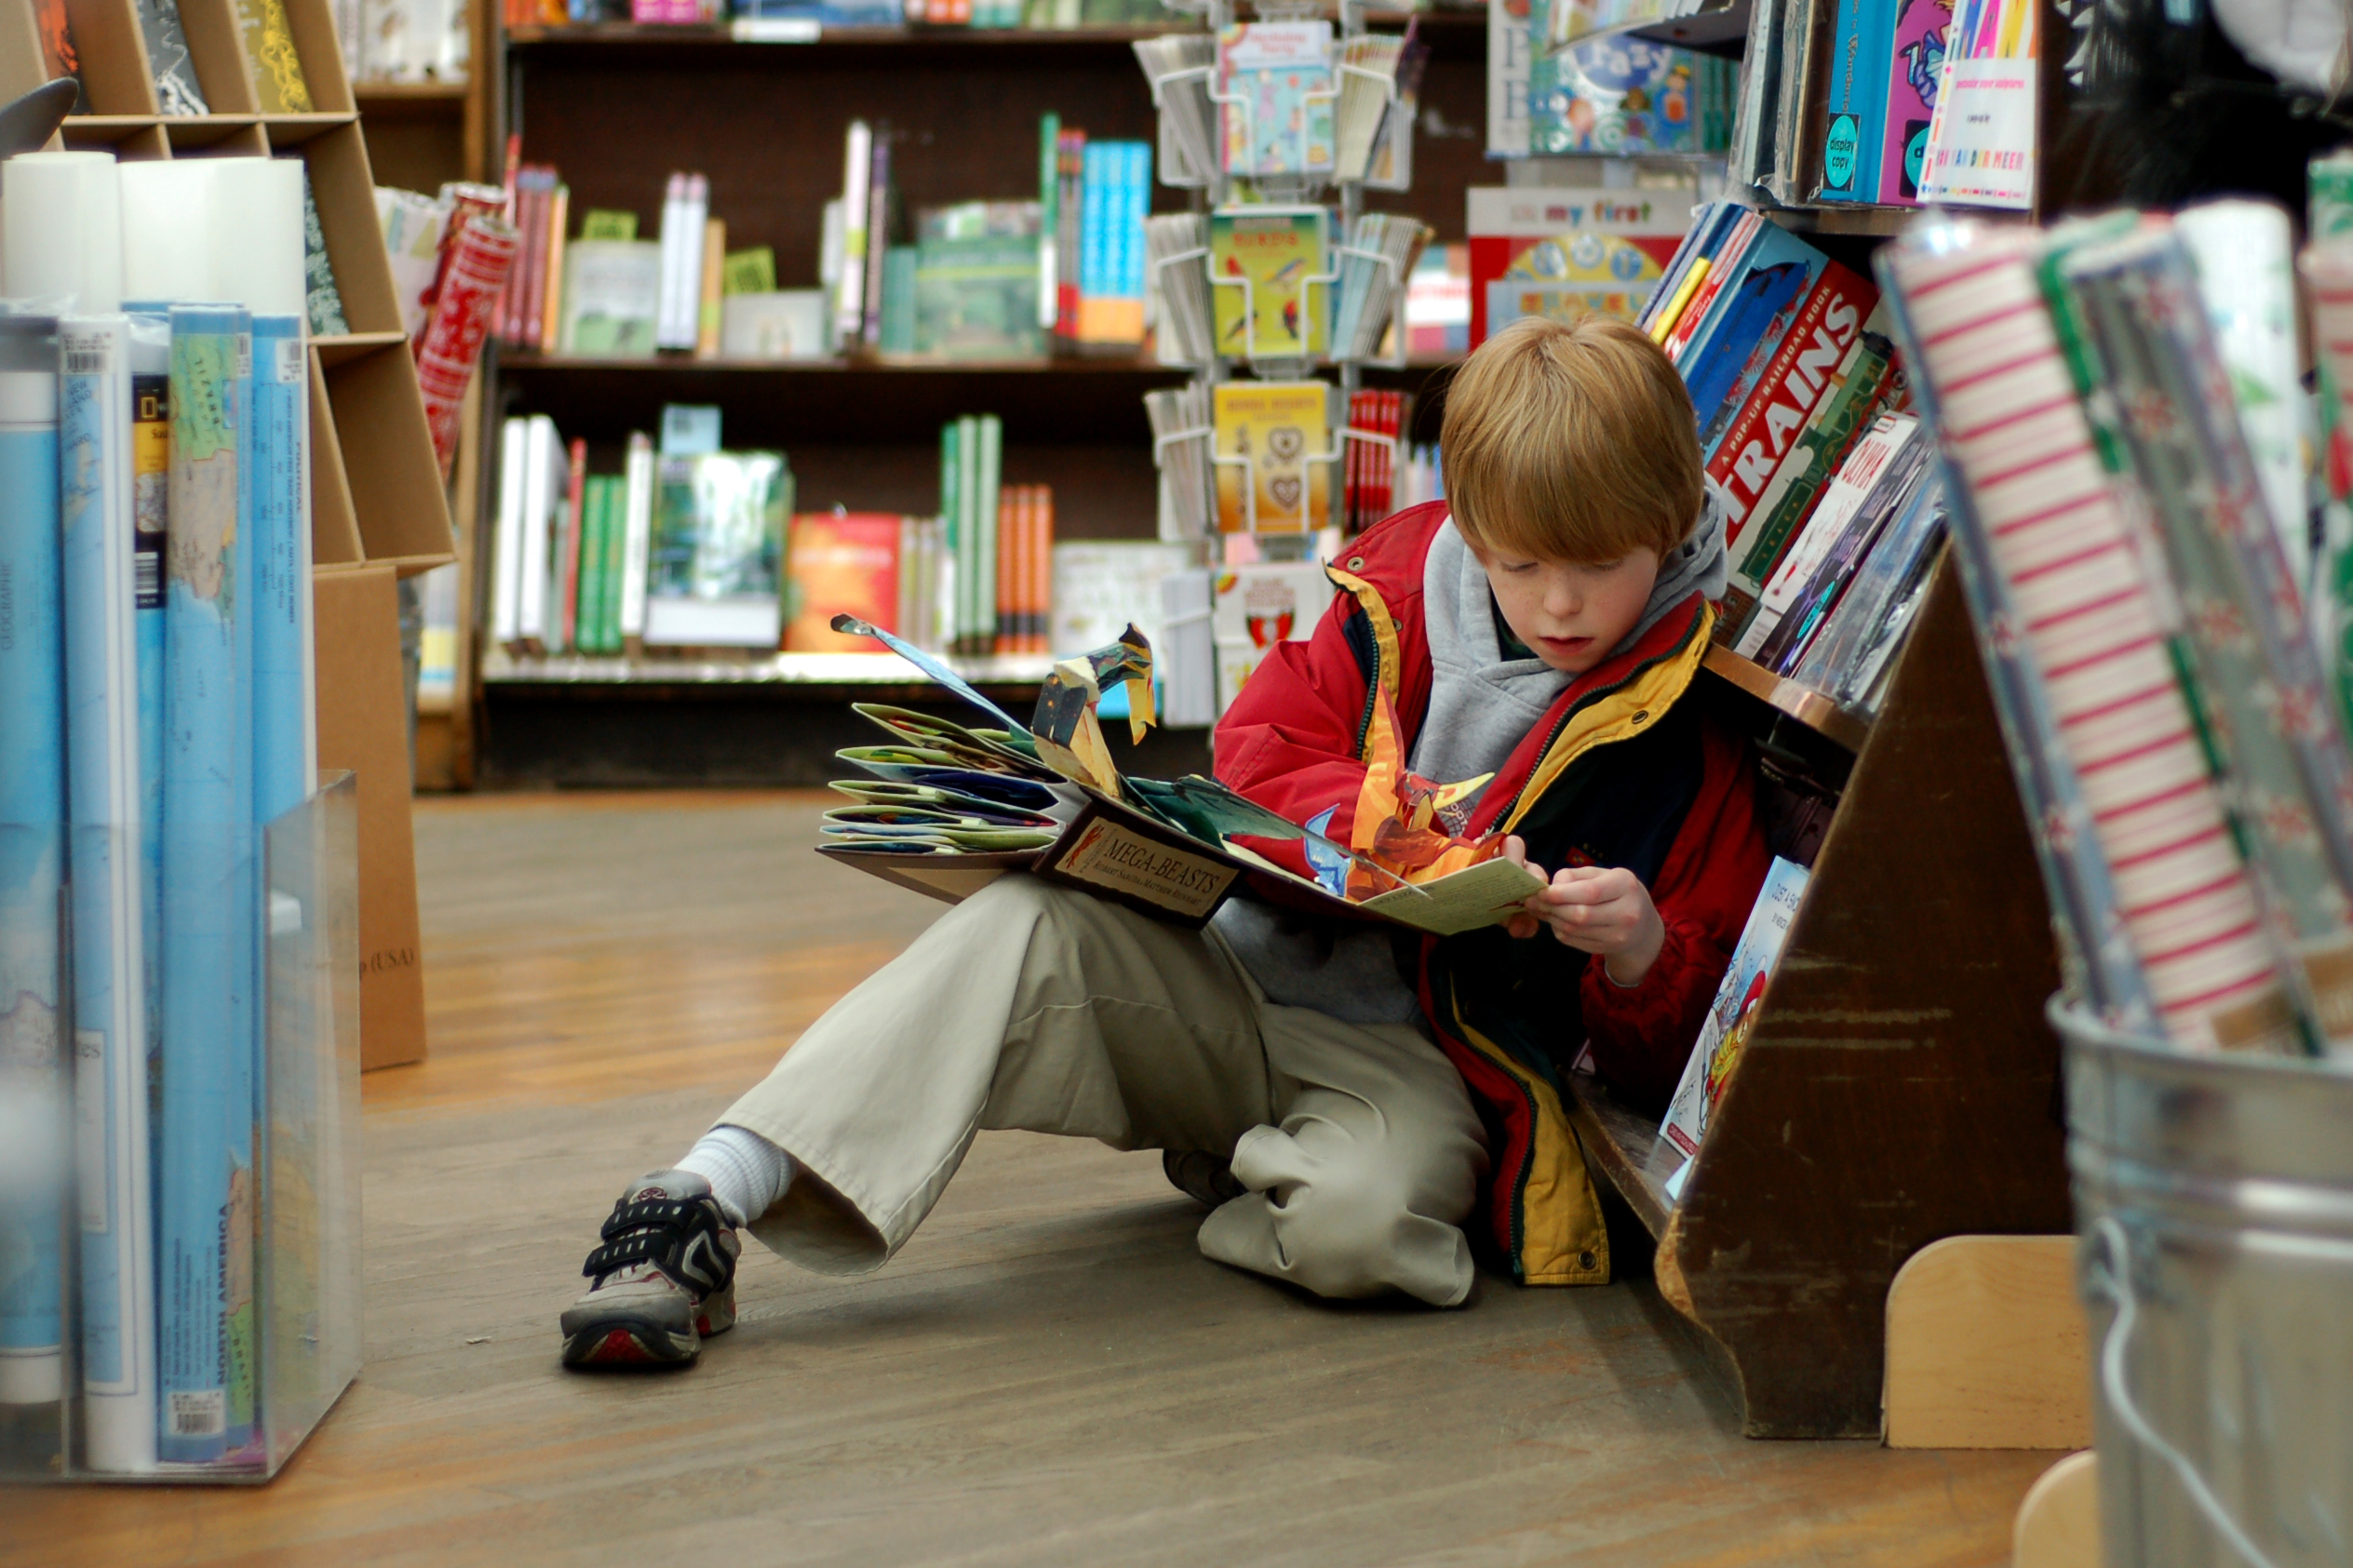
<svg viewBox="0 0 2353 1568">
<path fill-rule="evenodd" d="M 158 1455 L 252 1439 L 254 985 L 252 315 L 172 308 L 165 552 Z"/>
</svg>

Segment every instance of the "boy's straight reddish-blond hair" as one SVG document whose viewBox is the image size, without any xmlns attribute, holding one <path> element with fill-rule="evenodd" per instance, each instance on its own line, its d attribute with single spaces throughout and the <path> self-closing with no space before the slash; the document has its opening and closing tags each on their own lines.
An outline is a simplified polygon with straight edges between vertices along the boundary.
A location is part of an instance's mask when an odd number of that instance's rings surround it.
<svg viewBox="0 0 2353 1568">
<path fill-rule="evenodd" d="M 1438 447 L 1454 527 L 1482 555 L 1666 557 L 1706 496 L 1682 376 L 1607 315 L 1520 317 L 1480 343 L 1447 386 Z"/>
</svg>

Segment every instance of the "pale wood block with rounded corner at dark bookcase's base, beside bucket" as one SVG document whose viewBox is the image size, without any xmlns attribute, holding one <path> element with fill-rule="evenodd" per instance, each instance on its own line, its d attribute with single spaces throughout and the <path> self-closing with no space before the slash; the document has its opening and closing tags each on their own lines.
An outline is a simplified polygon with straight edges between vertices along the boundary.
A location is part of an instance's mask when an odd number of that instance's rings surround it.
<svg viewBox="0 0 2353 1568">
<path fill-rule="evenodd" d="M 1946 1237 L 1887 1288 L 1889 1448 L 2085 1448 L 2075 1237 Z"/>
</svg>

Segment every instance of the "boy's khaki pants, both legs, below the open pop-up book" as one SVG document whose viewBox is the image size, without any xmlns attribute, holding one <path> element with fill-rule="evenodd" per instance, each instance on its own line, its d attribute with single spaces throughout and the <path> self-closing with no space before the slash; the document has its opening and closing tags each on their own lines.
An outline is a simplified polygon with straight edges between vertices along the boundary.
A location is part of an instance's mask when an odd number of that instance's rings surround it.
<svg viewBox="0 0 2353 1568">
<path fill-rule="evenodd" d="M 1318 1295 L 1471 1293 L 1487 1147 L 1412 1025 L 1275 1006 L 1209 931 L 1000 877 L 842 997 L 720 1117 L 802 1168 L 753 1220 L 828 1274 L 882 1267 L 979 1128 L 1233 1154 L 1200 1251 Z M 812 1180 L 814 1178 L 814 1180 Z"/>
</svg>

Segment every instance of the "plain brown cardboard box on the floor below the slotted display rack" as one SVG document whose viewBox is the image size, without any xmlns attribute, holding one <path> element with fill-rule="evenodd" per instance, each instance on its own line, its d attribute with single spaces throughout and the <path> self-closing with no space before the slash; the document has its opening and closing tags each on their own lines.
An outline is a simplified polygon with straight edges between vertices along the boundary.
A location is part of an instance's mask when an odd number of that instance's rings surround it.
<svg viewBox="0 0 2353 1568">
<path fill-rule="evenodd" d="M 360 792 L 360 1070 L 426 1056 L 426 987 L 409 825 L 409 719 L 393 567 L 320 567 L 318 766 Z"/>
</svg>

